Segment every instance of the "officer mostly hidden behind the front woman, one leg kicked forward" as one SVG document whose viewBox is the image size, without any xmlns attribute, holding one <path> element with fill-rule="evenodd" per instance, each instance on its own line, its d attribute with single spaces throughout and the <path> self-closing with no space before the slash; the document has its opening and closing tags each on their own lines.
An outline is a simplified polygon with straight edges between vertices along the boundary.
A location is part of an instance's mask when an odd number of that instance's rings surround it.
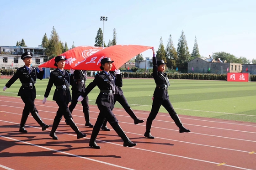
<svg viewBox="0 0 256 170">
<path fill-rule="evenodd" d="M 115 70 L 114 72 L 111 72 L 113 76 L 115 76 L 116 79 L 119 81 L 122 81 L 122 86 L 123 86 L 123 79 L 120 70 Z M 114 99 L 115 99 L 115 104 L 118 101 L 124 108 L 124 110 L 129 114 L 129 116 L 134 120 L 134 124 L 139 124 L 143 123 L 144 120 L 140 120 L 137 118 L 131 107 L 129 106 L 126 98 L 123 95 L 123 90 L 121 89 L 122 86 L 115 86 L 115 94 L 114 94 Z M 110 129 L 107 128 L 107 119 L 102 124 L 101 127 L 102 130 L 104 131 L 110 131 Z"/>
</svg>

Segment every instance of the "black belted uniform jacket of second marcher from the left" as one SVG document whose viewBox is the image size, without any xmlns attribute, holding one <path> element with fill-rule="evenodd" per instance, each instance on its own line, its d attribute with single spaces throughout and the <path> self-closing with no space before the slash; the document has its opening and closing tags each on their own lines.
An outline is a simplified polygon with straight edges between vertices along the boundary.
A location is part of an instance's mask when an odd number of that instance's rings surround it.
<svg viewBox="0 0 256 170">
<path fill-rule="evenodd" d="M 51 88 L 53 87 L 53 84 L 54 84 L 54 86 L 56 86 L 56 89 L 53 94 L 53 100 L 70 102 L 71 95 L 69 91 L 69 84 L 70 84 L 70 79 L 72 79 L 72 77 L 73 76 L 71 76 L 69 72 L 66 70 L 64 70 L 64 74 L 60 72 L 59 68 L 53 70 L 50 74 L 50 79 L 49 79 L 47 88 L 45 90 L 44 97 L 48 98 Z M 66 86 L 66 88 L 63 88 L 64 85 Z"/>
</svg>

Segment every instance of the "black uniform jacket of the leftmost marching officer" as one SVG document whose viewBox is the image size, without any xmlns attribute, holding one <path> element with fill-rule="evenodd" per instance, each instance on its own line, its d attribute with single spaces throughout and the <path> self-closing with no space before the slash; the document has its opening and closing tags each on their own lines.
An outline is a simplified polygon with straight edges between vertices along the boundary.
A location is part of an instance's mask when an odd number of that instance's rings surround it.
<svg viewBox="0 0 256 170">
<path fill-rule="evenodd" d="M 10 88 L 11 85 L 20 78 L 21 81 L 21 88 L 19 90 L 18 96 L 22 97 L 32 97 L 36 98 L 36 88 L 34 86 L 36 79 L 43 79 L 44 70 L 37 72 L 37 69 L 35 67 L 31 67 L 30 74 L 27 71 L 27 68 L 25 66 L 20 67 L 17 69 L 17 72 L 11 77 L 9 82 L 6 83 L 6 87 Z M 32 80 L 33 78 L 33 80 Z M 32 83 L 32 86 L 29 85 L 29 83 Z"/>
</svg>

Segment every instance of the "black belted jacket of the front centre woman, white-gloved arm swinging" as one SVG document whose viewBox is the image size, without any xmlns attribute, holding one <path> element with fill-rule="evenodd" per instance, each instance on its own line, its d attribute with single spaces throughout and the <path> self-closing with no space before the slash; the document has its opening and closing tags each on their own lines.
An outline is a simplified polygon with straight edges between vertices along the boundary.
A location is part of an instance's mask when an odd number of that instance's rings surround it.
<svg viewBox="0 0 256 170">
<path fill-rule="evenodd" d="M 107 74 L 102 71 L 94 77 L 93 82 L 91 82 L 87 88 L 85 88 L 85 93 L 82 93 L 82 97 L 88 95 L 93 88 L 98 86 L 98 88 L 102 91 L 109 91 L 112 90 L 113 93 L 103 93 L 100 92 L 97 99 L 96 104 L 100 104 L 109 108 L 114 108 L 114 91 L 115 91 L 115 84 L 117 86 L 122 86 L 122 81 L 115 79 L 115 77 L 111 74 L 111 77 L 108 77 Z"/>
</svg>

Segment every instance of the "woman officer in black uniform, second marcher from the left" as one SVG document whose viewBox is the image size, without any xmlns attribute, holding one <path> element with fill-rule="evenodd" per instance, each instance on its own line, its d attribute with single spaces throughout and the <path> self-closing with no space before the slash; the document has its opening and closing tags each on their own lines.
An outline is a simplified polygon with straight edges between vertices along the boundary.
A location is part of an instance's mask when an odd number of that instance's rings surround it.
<svg viewBox="0 0 256 170">
<path fill-rule="evenodd" d="M 46 100 L 47 100 L 46 98 L 48 98 L 51 88 L 53 87 L 53 84 L 54 84 L 54 86 L 56 86 L 56 89 L 53 94 L 53 100 L 55 100 L 59 106 L 59 109 L 53 121 L 52 130 L 50 132 L 50 136 L 54 140 L 58 140 L 58 137 L 56 136 L 55 131 L 59 126 L 59 122 L 62 116 L 64 116 L 69 126 L 75 131 L 77 135 L 77 139 L 80 139 L 86 136 L 86 134 L 83 134 L 82 132 L 80 132 L 80 130 L 76 126 L 68 108 L 68 104 L 71 101 L 69 84 L 70 84 L 70 78 L 72 78 L 73 76 L 70 76 L 69 72 L 64 70 L 65 60 L 66 58 L 64 56 L 57 56 L 54 58 L 54 61 L 55 61 L 54 66 L 58 68 L 56 70 L 53 70 L 50 74 L 50 79 L 49 79 L 46 91 L 44 93 L 44 99 L 43 99 L 43 104 L 44 104 L 46 103 Z"/>
</svg>

